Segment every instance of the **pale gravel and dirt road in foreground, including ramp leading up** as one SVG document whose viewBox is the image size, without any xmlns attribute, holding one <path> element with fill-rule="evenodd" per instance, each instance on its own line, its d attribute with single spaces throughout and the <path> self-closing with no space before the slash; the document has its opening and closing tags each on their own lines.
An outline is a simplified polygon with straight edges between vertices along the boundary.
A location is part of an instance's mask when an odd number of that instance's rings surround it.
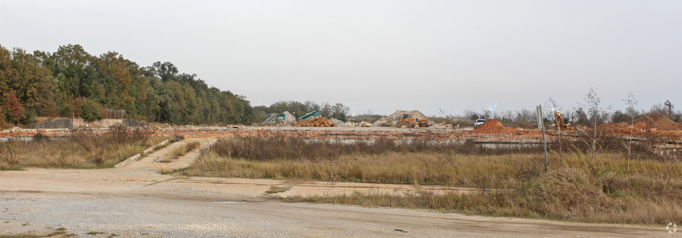
<svg viewBox="0 0 682 238">
<path fill-rule="evenodd" d="M 215 140 L 200 141 L 205 146 Z M 180 143 L 115 169 L 0 172 L 0 235 L 66 228 L 79 237 L 671 237 L 665 225 L 566 223 L 283 203 L 272 196 L 355 190 L 400 194 L 415 188 L 161 175 L 159 170 L 186 167 L 198 154 L 195 150 L 171 163 L 156 162 L 169 156 L 175 146 Z M 288 190 L 267 194 L 272 186 Z"/>
</svg>

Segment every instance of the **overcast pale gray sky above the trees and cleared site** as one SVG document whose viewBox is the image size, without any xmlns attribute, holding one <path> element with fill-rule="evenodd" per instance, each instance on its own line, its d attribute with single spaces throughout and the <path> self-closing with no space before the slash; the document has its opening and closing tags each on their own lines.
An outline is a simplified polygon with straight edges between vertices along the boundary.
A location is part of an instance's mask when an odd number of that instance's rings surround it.
<svg viewBox="0 0 682 238">
<path fill-rule="evenodd" d="M 0 1 L 0 44 L 171 62 L 252 105 L 682 109 L 682 1 Z"/>
</svg>

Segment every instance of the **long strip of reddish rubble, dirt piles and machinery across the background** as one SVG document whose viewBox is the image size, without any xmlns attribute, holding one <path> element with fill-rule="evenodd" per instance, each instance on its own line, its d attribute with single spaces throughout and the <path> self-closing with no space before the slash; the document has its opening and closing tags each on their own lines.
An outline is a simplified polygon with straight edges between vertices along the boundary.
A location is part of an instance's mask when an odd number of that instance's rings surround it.
<svg viewBox="0 0 682 238">
<path fill-rule="evenodd" d="M 559 118 L 554 118 L 552 124 L 545 124 L 545 141 L 558 140 L 559 136 L 563 136 L 565 140 L 577 140 L 590 129 L 586 126 L 563 125 L 562 122 L 563 120 L 559 116 Z M 225 127 L 171 126 L 159 125 L 158 123 L 146 125 L 144 122 L 112 119 L 85 123 L 82 119 L 60 119 L 29 125 L 29 129 L 18 127 L 6 129 L 0 131 L 0 138 L 4 138 L 4 140 L 11 138 L 30 139 L 35 134 L 61 137 L 68 136 L 74 130 L 84 131 L 87 134 L 103 135 L 107 134 L 109 127 L 113 125 L 145 128 L 155 136 L 178 134 L 184 138 L 220 138 L 230 134 L 285 133 L 333 140 L 428 137 L 435 140 L 460 142 L 469 140 L 477 143 L 542 143 L 543 141 L 541 128 L 505 127 L 495 119 L 486 120 L 482 125 L 475 128 L 473 125 L 435 123 L 417 110 L 396 110 L 391 115 L 379 118 L 372 123 L 366 121 L 343 122 L 335 118 L 324 117 L 319 110 L 311 111 L 301 117 L 284 111 L 283 113 L 271 113 L 267 120 L 260 123 L 260 126 L 227 125 Z M 641 115 L 635 118 L 632 123 L 603 123 L 598 126 L 597 130 L 609 136 L 632 138 L 636 143 L 647 143 L 652 148 L 669 149 L 673 154 L 682 148 L 682 123 L 676 123 L 665 116 Z"/>
</svg>

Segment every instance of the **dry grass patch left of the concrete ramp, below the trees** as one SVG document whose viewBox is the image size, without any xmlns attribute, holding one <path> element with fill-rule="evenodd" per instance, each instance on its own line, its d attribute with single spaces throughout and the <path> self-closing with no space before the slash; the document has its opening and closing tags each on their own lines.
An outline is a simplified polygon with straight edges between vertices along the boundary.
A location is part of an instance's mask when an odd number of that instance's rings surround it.
<svg viewBox="0 0 682 238">
<path fill-rule="evenodd" d="M 112 167 L 165 139 L 164 136 L 149 136 L 144 129 L 125 127 L 112 127 L 106 136 L 93 136 L 88 131 L 72 131 L 64 138 L 36 134 L 29 141 L 0 143 L 0 170 Z"/>
</svg>

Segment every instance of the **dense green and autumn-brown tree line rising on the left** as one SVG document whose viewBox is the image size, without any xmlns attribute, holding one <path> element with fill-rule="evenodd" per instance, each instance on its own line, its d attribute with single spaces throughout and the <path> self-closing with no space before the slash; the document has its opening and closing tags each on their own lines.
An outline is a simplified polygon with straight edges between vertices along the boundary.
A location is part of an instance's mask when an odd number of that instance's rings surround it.
<svg viewBox="0 0 682 238">
<path fill-rule="evenodd" d="M 132 120 L 171 124 L 254 122 L 244 96 L 208 86 L 170 62 L 141 67 L 119 53 L 90 55 L 82 46 L 54 53 L 0 45 L 0 122 L 28 124 L 36 116 L 103 118 L 125 110 Z"/>
</svg>

